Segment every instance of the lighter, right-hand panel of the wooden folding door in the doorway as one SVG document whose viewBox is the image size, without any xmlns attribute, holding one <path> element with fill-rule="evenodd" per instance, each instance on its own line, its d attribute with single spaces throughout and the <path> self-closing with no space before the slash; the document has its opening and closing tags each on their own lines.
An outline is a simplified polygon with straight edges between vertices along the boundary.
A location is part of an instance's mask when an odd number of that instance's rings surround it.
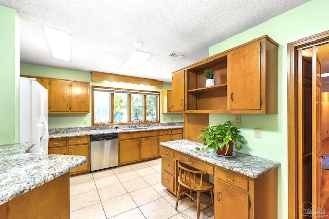
<svg viewBox="0 0 329 219">
<path fill-rule="evenodd" d="M 312 50 L 312 205 L 321 208 L 321 61 Z"/>
</svg>

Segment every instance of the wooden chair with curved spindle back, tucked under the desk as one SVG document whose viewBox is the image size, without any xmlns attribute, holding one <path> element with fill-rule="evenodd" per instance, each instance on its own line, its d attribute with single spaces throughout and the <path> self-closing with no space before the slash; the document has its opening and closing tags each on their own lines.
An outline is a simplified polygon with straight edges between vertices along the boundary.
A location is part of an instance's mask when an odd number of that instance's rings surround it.
<svg viewBox="0 0 329 219">
<path fill-rule="evenodd" d="M 176 210 L 178 207 L 178 201 L 181 195 L 187 195 L 197 204 L 197 219 L 200 218 L 200 211 L 206 210 L 210 206 L 214 204 L 214 195 L 212 189 L 214 188 L 214 184 L 203 180 L 204 175 L 207 174 L 204 171 L 190 170 L 186 167 L 181 166 L 180 161 L 178 161 L 178 189 L 177 189 L 177 199 L 176 199 Z M 188 190 L 190 190 L 190 194 L 186 191 L 180 193 L 180 186 L 184 186 Z M 192 191 L 197 192 L 197 199 L 192 197 Z M 210 192 L 211 195 L 211 205 L 204 205 L 200 203 L 201 192 Z M 202 205 L 203 209 L 200 209 L 200 205 Z"/>
</svg>

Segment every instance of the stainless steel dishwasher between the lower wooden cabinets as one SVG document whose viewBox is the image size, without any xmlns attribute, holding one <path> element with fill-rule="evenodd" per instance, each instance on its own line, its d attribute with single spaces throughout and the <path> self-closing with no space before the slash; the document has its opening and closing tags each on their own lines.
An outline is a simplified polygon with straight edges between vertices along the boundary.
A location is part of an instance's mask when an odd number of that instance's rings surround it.
<svg viewBox="0 0 329 219">
<path fill-rule="evenodd" d="M 90 171 L 118 166 L 117 133 L 91 135 L 90 145 Z"/>
</svg>

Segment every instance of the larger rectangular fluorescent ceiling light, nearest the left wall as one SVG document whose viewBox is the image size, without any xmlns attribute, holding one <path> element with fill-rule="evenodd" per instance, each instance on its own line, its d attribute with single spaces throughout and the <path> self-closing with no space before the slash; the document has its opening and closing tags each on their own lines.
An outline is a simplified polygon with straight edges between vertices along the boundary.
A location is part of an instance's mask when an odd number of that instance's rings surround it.
<svg viewBox="0 0 329 219">
<path fill-rule="evenodd" d="M 53 58 L 71 61 L 72 34 L 62 30 L 41 26 Z"/>
</svg>

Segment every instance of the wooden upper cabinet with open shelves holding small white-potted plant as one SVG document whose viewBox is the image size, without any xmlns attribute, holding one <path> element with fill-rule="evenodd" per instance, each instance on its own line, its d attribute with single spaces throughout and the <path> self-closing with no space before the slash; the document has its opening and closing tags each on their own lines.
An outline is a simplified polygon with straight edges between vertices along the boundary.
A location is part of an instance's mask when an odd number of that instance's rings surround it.
<svg viewBox="0 0 329 219">
<path fill-rule="evenodd" d="M 174 72 L 174 111 L 179 106 L 176 111 L 185 113 L 277 113 L 277 49 L 278 44 L 265 35 Z M 212 87 L 205 87 L 206 69 L 215 72 Z M 185 99 L 178 90 L 184 83 Z"/>
</svg>

